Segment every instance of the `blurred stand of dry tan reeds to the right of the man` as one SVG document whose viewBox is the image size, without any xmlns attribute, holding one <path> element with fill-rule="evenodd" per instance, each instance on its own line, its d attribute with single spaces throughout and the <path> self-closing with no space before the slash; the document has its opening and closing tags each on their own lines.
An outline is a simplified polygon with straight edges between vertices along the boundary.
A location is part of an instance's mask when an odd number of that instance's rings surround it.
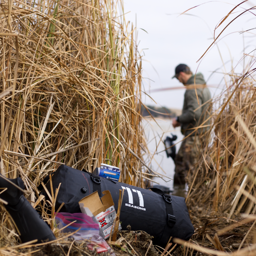
<svg viewBox="0 0 256 256">
<path fill-rule="evenodd" d="M 196 166 L 197 175 L 190 179 L 195 181 L 189 194 L 191 203 L 209 203 L 210 197 L 213 209 L 229 213 L 229 218 L 256 211 L 254 200 L 247 200 L 244 192 L 255 195 L 256 84 L 248 75 L 233 80 L 220 111 L 213 116 L 211 145 Z"/>
</svg>

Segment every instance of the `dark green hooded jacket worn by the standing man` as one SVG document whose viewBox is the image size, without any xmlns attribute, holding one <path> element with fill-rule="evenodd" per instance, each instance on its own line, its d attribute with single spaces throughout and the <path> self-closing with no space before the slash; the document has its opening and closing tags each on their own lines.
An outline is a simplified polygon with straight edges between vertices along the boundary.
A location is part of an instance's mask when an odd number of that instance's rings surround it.
<svg viewBox="0 0 256 256">
<path fill-rule="evenodd" d="M 199 85 L 199 86 L 196 86 L 199 105 L 198 105 L 198 101 L 195 94 L 194 79 L 195 79 L 195 84 Z M 200 124 L 202 124 L 209 117 L 208 107 L 209 107 L 209 104 L 211 103 L 210 91 L 207 87 L 202 87 L 200 85 L 206 85 L 205 79 L 201 73 L 192 75 L 187 81 L 187 84 L 185 85 L 186 92 L 184 95 L 183 110 L 182 110 L 182 115 L 179 116 L 179 122 L 181 123 L 182 134 L 184 134 L 185 136 L 193 133 L 193 131 L 195 132 L 192 135 L 205 133 L 209 129 L 209 126 L 200 128 L 197 130 L 193 129 L 193 128 L 196 128 L 197 126 L 200 126 Z M 205 102 L 207 103 L 204 104 Z M 209 124 L 210 124 L 210 121 L 208 120 L 203 125 L 209 125 Z"/>
</svg>

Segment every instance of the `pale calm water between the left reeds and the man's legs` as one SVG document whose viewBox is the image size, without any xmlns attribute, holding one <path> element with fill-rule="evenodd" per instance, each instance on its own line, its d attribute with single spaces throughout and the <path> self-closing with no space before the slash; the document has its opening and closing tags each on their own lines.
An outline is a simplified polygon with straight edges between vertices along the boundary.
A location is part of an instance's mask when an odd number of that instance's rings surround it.
<svg viewBox="0 0 256 256">
<path fill-rule="evenodd" d="M 157 171 L 160 174 L 164 174 L 167 177 L 155 178 L 154 180 L 162 186 L 166 186 L 170 188 L 170 190 L 175 190 L 173 194 L 183 196 L 184 189 L 180 187 L 173 187 L 173 175 L 174 175 L 174 162 L 172 158 L 167 158 L 166 152 L 163 151 L 165 149 L 164 141 L 166 136 L 170 136 L 171 134 L 177 135 L 177 140 L 180 142 L 183 139 L 183 135 L 181 134 L 180 127 L 174 129 L 171 125 L 171 119 L 156 119 L 157 123 L 152 119 L 145 119 L 143 121 L 147 146 L 151 153 L 151 158 L 145 159 L 146 163 L 150 163 L 150 167 Z M 180 148 L 181 143 L 176 145 L 176 153 Z M 163 152 L 162 152 L 163 151 Z"/>
</svg>

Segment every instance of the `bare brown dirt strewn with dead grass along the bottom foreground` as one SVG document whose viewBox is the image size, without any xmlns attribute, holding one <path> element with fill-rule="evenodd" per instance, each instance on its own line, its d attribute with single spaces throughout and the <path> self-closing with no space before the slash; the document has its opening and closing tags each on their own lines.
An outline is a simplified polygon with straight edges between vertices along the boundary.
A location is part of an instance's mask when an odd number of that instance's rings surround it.
<svg viewBox="0 0 256 256">
<path fill-rule="evenodd" d="M 244 223 L 240 216 L 228 219 L 227 214 L 216 214 L 204 206 L 189 209 L 190 218 L 195 228 L 195 234 L 190 242 L 208 249 L 225 252 L 237 251 L 242 247 L 256 242 L 256 228 L 252 222 Z M 248 233 L 248 231 L 250 231 Z M 245 238 L 246 236 L 246 238 Z M 158 246 L 152 244 L 152 236 L 146 232 L 121 231 L 118 233 L 117 245 L 111 245 L 116 256 L 160 256 Z M 44 246 L 34 246 L 29 249 L 21 249 L 21 253 L 32 253 L 33 256 L 110 256 L 111 253 L 97 253 L 87 248 L 85 243 L 79 241 L 63 241 Z M 166 255 L 168 252 L 166 253 Z M 207 254 L 197 252 L 179 246 L 172 256 L 205 256 Z"/>
</svg>

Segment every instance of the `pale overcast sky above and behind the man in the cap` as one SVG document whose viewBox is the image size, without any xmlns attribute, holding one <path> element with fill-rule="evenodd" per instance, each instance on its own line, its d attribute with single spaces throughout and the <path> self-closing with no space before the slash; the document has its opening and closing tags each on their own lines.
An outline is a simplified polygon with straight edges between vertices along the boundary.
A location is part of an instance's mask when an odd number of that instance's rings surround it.
<svg viewBox="0 0 256 256">
<path fill-rule="evenodd" d="M 253 55 L 256 49 L 255 11 L 246 12 L 236 19 L 219 37 L 201 62 L 196 63 L 213 42 L 213 33 L 217 24 L 241 0 L 204 1 L 204 0 L 124 0 L 126 21 L 130 20 L 137 27 L 137 43 L 143 56 L 144 90 L 157 102 L 157 106 L 182 109 L 183 85 L 177 79 L 171 79 L 175 66 L 185 63 L 193 73 L 204 74 L 212 94 L 219 94 L 216 87 L 225 87 L 223 73 L 242 72 L 251 58 L 241 62 L 244 52 Z M 204 4 L 203 4 L 204 3 Z M 202 4 L 202 5 L 200 5 Z M 182 12 L 189 10 L 185 14 Z M 238 7 L 234 14 L 216 30 L 218 36 L 222 29 L 236 16 L 256 5 L 247 1 Z M 252 29 L 246 33 L 243 30 Z M 218 46 L 218 47 L 217 47 Z M 218 49 L 219 48 L 219 49 Z M 245 48 L 245 49 L 244 49 Z M 250 60 L 249 60 L 250 59 Z M 225 63 L 225 68 L 223 67 Z M 218 73 L 213 73 L 214 71 Z M 150 90 L 177 87 L 165 92 Z M 144 96 L 147 105 L 154 102 Z"/>
</svg>

